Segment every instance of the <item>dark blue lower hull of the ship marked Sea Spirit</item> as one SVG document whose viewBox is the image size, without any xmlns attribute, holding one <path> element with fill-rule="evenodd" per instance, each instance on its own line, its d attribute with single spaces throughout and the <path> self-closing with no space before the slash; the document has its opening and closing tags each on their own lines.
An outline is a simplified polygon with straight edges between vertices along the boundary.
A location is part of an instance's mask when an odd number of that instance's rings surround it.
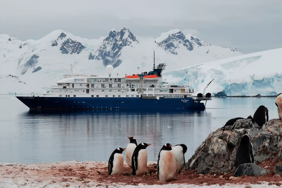
<svg viewBox="0 0 282 188">
<path fill-rule="evenodd" d="M 205 109 L 204 103 L 186 98 L 141 97 L 18 97 L 31 110 L 39 109 Z"/>
</svg>

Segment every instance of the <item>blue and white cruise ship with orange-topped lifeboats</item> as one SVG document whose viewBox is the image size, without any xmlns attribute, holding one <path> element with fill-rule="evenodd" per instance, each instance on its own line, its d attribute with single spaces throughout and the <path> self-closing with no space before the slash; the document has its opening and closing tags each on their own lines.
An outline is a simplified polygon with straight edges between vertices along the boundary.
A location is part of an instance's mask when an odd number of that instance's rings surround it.
<svg viewBox="0 0 282 188">
<path fill-rule="evenodd" d="M 40 109 L 204 109 L 210 94 L 193 96 L 189 86 L 169 85 L 162 80 L 165 64 L 152 71 L 125 76 L 70 74 L 51 86 L 51 91 L 35 96 L 16 96 L 30 110 Z"/>
</svg>

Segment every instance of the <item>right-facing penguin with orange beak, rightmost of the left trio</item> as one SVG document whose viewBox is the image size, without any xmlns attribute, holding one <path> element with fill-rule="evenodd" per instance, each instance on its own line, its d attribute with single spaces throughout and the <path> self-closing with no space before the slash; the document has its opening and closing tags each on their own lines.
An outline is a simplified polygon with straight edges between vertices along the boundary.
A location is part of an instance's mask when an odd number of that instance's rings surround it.
<svg viewBox="0 0 282 188">
<path fill-rule="evenodd" d="M 132 175 L 143 175 L 146 172 L 147 167 L 147 150 L 146 148 L 151 144 L 141 143 L 139 144 L 132 154 Z"/>
</svg>

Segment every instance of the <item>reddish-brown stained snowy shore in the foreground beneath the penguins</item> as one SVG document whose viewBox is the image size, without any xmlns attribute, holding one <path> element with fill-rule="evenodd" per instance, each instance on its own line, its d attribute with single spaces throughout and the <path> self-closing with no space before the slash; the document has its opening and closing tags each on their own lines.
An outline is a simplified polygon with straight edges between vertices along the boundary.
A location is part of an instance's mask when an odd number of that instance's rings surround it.
<svg viewBox="0 0 282 188">
<path fill-rule="evenodd" d="M 157 180 L 154 162 L 149 162 L 143 176 L 107 175 L 107 162 L 69 161 L 24 165 L 0 163 L 0 187 L 282 187 L 281 177 L 273 175 L 235 178 L 231 175 L 199 175 L 195 170 L 184 170 L 173 182 Z M 131 169 L 125 163 L 124 173 Z"/>
</svg>

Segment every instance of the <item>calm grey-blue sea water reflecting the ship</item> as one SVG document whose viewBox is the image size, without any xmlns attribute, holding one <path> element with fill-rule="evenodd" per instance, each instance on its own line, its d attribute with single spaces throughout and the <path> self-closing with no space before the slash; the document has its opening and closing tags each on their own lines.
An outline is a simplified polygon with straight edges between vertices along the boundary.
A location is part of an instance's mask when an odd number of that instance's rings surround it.
<svg viewBox="0 0 282 188">
<path fill-rule="evenodd" d="M 89 110 L 30 112 L 17 98 L 0 95 L 0 163 L 108 161 L 112 151 L 125 148 L 127 136 L 147 148 L 157 161 L 165 143 L 186 144 L 186 161 L 206 136 L 227 120 L 247 118 L 257 107 L 278 118 L 275 98 L 213 98 L 203 111 Z"/>
</svg>

